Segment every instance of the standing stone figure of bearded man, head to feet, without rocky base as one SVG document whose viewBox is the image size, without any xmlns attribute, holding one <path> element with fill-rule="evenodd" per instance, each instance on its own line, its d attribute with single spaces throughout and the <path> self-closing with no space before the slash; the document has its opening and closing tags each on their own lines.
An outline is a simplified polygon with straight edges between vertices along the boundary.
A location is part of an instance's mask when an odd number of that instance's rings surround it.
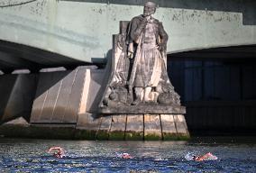
<svg viewBox="0 0 256 173">
<path fill-rule="evenodd" d="M 143 14 L 132 19 L 128 31 L 128 57 L 134 59 L 129 79 L 135 93 L 133 105 L 156 101 L 159 92 L 154 87 L 168 78 L 164 62 L 168 34 L 152 17 L 155 11 L 154 3 L 146 3 Z"/>
</svg>

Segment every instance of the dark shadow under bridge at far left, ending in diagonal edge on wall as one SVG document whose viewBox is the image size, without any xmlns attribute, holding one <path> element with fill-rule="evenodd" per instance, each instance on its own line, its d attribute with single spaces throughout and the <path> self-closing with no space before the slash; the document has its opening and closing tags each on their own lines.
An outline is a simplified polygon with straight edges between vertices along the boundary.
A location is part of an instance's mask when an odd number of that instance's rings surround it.
<svg viewBox="0 0 256 173">
<path fill-rule="evenodd" d="M 74 68 L 87 64 L 50 51 L 0 40 L 0 70 L 5 73 L 0 76 L 0 123 L 20 116 L 29 122 L 33 101 L 69 77 Z M 41 68 L 56 67 L 68 70 L 39 73 Z M 14 69 L 29 69 L 32 74 L 11 75 Z"/>
</svg>

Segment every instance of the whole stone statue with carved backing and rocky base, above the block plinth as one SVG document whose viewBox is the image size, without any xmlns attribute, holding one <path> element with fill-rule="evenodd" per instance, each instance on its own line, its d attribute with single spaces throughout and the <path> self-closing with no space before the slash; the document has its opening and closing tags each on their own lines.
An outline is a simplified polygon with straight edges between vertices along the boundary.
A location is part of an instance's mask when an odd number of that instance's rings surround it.
<svg viewBox="0 0 256 173">
<path fill-rule="evenodd" d="M 155 12 L 156 4 L 147 2 L 143 14 L 120 23 L 120 34 L 114 37 L 112 77 L 100 107 L 180 106 L 167 74 L 168 34 L 152 17 Z"/>
</svg>

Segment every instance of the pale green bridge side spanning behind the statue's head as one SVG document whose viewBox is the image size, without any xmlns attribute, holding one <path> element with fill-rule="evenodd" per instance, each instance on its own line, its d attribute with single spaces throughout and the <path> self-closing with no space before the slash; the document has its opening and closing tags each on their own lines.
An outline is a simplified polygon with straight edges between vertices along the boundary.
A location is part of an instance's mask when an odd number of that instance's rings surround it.
<svg viewBox="0 0 256 173">
<path fill-rule="evenodd" d="M 91 62 L 105 59 L 119 21 L 142 14 L 142 0 L 4 0 L 0 40 Z M 169 33 L 168 51 L 256 44 L 252 0 L 159 0 L 155 17 Z"/>
</svg>

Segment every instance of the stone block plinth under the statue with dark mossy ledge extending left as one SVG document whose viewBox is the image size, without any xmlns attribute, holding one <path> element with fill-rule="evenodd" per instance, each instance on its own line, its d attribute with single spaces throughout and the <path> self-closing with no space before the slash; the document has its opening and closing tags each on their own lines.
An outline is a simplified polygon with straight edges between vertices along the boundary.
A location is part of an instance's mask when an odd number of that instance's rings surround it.
<svg viewBox="0 0 256 173">
<path fill-rule="evenodd" d="M 96 122 L 98 123 L 96 123 Z M 190 136 L 183 114 L 120 114 L 102 116 L 95 125 L 2 124 L 0 137 L 109 140 L 109 141 L 187 141 Z"/>
</svg>

